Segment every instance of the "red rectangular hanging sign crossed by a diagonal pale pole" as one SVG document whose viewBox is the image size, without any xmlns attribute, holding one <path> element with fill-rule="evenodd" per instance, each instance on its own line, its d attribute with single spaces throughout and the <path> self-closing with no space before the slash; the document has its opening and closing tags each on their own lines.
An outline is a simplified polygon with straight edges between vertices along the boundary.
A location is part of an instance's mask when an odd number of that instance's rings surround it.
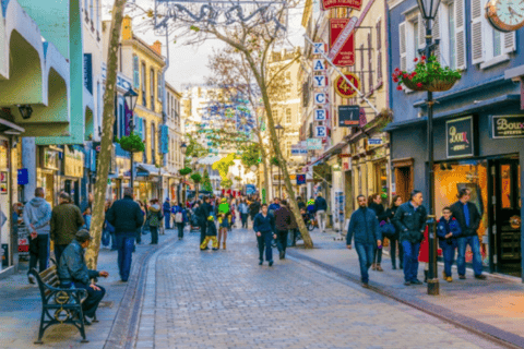
<svg viewBox="0 0 524 349">
<path fill-rule="evenodd" d="M 330 20 L 330 55 L 337 67 L 355 65 L 355 33 L 358 19 Z"/>
</svg>

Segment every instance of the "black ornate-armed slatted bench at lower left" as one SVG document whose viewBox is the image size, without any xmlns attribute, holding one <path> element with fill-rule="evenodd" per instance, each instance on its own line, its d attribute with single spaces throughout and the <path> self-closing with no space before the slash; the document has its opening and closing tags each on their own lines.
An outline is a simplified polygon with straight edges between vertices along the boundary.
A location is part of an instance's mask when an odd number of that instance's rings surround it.
<svg viewBox="0 0 524 349">
<path fill-rule="evenodd" d="M 82 312 L 82 303 L 87 299 L 87 291 L 60 288 L 56 265 L 39 274 L 36 269 L 32 269 L 29 273 L 36 277 L 41 296 L 40 329 L 38 330 L 38 340 L 35 344 L 44 344 L 41 341 L 44 332 L 57 324 L 74 325 L 82 335 L 82 342 L 88 342 L 85 338 L 84 314 Z"/>
</svg>

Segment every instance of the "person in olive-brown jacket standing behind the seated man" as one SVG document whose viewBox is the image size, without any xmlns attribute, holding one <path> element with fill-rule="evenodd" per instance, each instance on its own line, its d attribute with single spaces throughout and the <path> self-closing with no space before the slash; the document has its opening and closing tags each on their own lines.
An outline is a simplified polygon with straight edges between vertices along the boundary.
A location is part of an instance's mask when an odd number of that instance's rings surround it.
<svg viewBox="0 0 524 349">
<path fill-rule="evenodd" d="M 85 220 L 80 208 L 71 204 L 70 195 L 66 192 L 60 193 L 59 204 L 51 212 L 50 233 L 55 244 L 55 258 L 57 265 L 60 263 L 60 256 L 66 248 L 74 240 L 79 229 L 84 226 Z M 88 210 L 86 207 L 85 210 Z M 91 221 L 90 221 L 91 225 Z"/>
</svg>

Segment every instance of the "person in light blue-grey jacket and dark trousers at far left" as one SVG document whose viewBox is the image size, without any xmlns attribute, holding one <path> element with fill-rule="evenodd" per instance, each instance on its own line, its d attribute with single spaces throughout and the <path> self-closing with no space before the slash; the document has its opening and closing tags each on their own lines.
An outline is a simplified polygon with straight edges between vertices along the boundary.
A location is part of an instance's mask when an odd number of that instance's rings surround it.
<svg viewBox="0 0 524 349">
<path fill-rule="evenodd" d="M 47 269 L 49 264 L 49 232 L 51 230 L 51 205 L 44 198 L 44 188 L 35 190 L 35 197 L 24 207 L 24 224 L 29 231 L 29 270 L 36 268 L 39 272 Z M 35 284 L 35 277 L 27 274 L 31 284 Z"/>
</svg>

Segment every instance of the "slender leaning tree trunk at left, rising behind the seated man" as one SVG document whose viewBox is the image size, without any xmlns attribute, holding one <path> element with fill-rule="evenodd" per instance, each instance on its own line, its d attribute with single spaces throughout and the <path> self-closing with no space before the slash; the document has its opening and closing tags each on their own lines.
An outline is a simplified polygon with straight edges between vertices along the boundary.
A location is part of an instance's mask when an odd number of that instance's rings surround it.
<svg viewBox="0 0 524 349">
<path fill-rule="evenodd" d="M 128 0 L 115 0 L 112 5 L 112 17 L 109 50 L 107 53 L 107 77 L 106 91 L 104 93 L 104 119 L 100 153 L 98 156 L 98 166 L 96 168 L 96 183 L 93 205 L 93 219 L 91 222 L 91 234 L 93 240 L 85 253 L 85 260 L 90 269 L 96 269 L 98 263 L 98 251 L 100 250 L 102 230 L 104 227 L 105 213 L 104 204 L 106 201 L 107 179 L 109 174 L 109 165 L 111 161 L 112 147 L 112 128 L 115 124 L 115 94 L 117 91 L 117 52 L 120 35 L 122 32 L 122 19 L 126 2 Z"/>
</svg>

